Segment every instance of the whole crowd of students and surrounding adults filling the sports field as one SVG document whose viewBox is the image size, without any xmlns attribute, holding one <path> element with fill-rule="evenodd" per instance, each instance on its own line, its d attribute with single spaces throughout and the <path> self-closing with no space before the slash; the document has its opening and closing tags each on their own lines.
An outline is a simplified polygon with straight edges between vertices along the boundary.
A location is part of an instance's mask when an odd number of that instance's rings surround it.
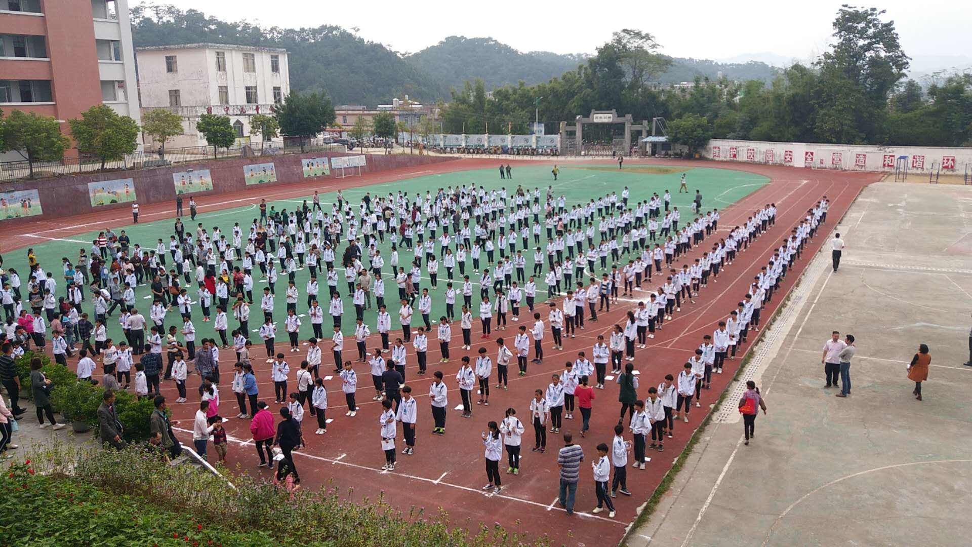
<svg viewBox="0 0 972 547">
<path fill-rule="evenodd" d="M 501 176 L 512 178 L 510 166 L 501 167 Z M 370 377 L 373 394 L 365 390 L 382 408 L 375 432 L 385 456 L 383 470 L 395 470 L 398 454 L 414 454 L 420 415 L 430 413 L 432 433 L 446 434 L 448 392 L 453 386 L 460 391 L 462 418 L 472 417 L 473 404 L 487 415 L 492 413 L 485 407 L 501 404 L 503 419 L 487 420 L 482 439 L 489 481 L 483 490 L 493 492 L 503 488 L 503 449 L 506 474 L 520 474 L 520 447 L 528 426 L 534 429 L 532 451 L 540 454 L 546 451 L 547 432 L 561 433 L 564 419 L 574 419 L 574 411 L 580 414 L 579 435 L 592 434 L 596 393 L 613 379 L 620 404 L 614 436 L 609 447 L 598 447 L 599 456 L 592 462 L 598 509 L 607 507 L 613 516 L 611 498 L 630 494 L 629 463 L 644 469 L 646 451 L 663 451 L 677 420 L 688 422 L 691 408 L 701 407 L 712 374 L 721 374 L 725 361 L 734 360 L 749 333 L 758 330 L 760 310 L 773 299 L 817 226 L 825 222 L 829 201 L 823 197 L 781 237 L 738 305 L 725 310 L 711 334 L 700 336 L 693 355 L 645 382 L 635 367 L 641 357 L 637 351 L 649 347 L 648 341 L 666 321 L 695 305 L 752 241 L 774 237 L 773 203 L 722 232 L 719 211 L 704 211 L 701 205 L 699 195 L 693 213 L 683 220 L 668 191 L 633 202 L 624 188 L 620 194 L 568 203 L 552 186 L 545 193 L 522 186 L 507 193 L 505 188 L 464 185 L 414 197 L 400 191 L 381 197 L 366 194 L 357 203 L 338 191 L 327 212 L 316 192 L 310 202 L 292 211 L 277 211 L 261 201 L 260 217 L 246 229 L 236 223 L 224 233 L 217 227 L 206 230 L 200 223 L 191 231 L 177 218 L 173 234 L 156 242 L 133 242 L 123 230 L 105 230 L 74 262 L 63 260 L 60 289 L 59 280 L 44 270 L 32 249 L 27 251 L 26 299 L 17 271 L 6 271 L 0 292 L 7 315 L 3 353 L 16 358 L 32 347 L 50 347 L 54 359 L 67 364 L 67 357 L 78 351 L 78 378 L 107 387 L 104 412 L 99 409 L 101 438 L 115 447 L 123 443 L 121 422 L 112 414 L 112 393 L 134 389 L 139 396 L 154 397 L 152 442 L 171 456 L 179 454 L 181 445 L 165 412 L 168 403 L 160 385 L 172 382 L 179 395 L 175 402 L 187 403 L 187 383 L 193 374 L 199 383 L 192 433 L 195 452 L 205 457 L 212 443 L 225 460 L 220 389 L 229 379 L 221 376 L 220 353 L 232 350 L 234 370 L 228 384 L 239 410 L 235 418 L 251 420 L 260 465 L 272 468 L 279 462 L 277 477 L 291 484 L 299 483 L 293 452 L 306 445 L 305 433 L 310 432 L 302 427 L 305 417 L 316 419 L 318 435 L 327 432 L 326 417 L 333 416 L 335 407 L 346 406 L 345 418 L 355 418 L 360 374 Z M 392 249 L 387 262 L 377 248 L 386 240 Z M 696 256 L 690 258 L 693 250 Z M 528 271 L 530 253 L 534 260 Z M 296 274 L 304 269 L 310 276 L 301 292 Z M 282 275 L 287 276 L 281 295 L 287 305 L 283 317 L 275 307 Z M 386 282 L 395 284 L 397 298 L 386 296 Z M 135 297 L 136 287 L 142 285 L 151 290 L 148 317 Z M 255 289 L 258 285 L 263 286 Z M 433 298 L 441 299 L 436 302 L 444 303 L 445 309 L 435 322 Z M 350 332 L 343 317 L 346 302 L 354 310 Z M 258 328 L 251 329 L 251 306 L 258 303 L 260 313 L 253 324 Z M 612 306 L 624 310 L 621 320 L 599 325 L 602 334 L 596 343 L 579 348 L 575 358 L 554 357 L 566 361 L 563 370 L 558 367 L 549 383 L 539 384 L 531 400 L 506 396 L 514 358 L 516 374 L 526 376 L 531 364 L 544 363 L 545 349 L 563 351 L 565 339 L 573 340 L 585 326 L 598 323 L 599 313 L 603 317 Z M 389 310 L 395 308 L 393 323 Z M 119 340 L 107 329 L 108 317 L 116 310 L 123 333 Z M 365 322 L 365 310 L 377 310 L 373 324 Z M 456 360 L 450 349 L 472 349 L 474 314 L 479 318 L 479 346 L 474 354 Z M 300 336 L 301 317 L 310 322 L 312 337 Z M 216 334 L 197 340 L 193 321 L 212 321 Z M 284 345 L 277 343 L 278 327 L 287 333 Z M 400 328 L 400 334 L 393 328 Z M 507 335 L 507 328 L 513 332 Z M 251 339 L 258 338 L 253 332 L 259 333 L 262 350 L 253 346 Z M 348 342 L 354 341 L 349 349 L 345 332 Z M 434 352 L 430 339 L 438 345 L 440 370 L 433 372 L 428 410 L 423 410 L 406 371 L 414 358 L 414 374 L 428 374 L 429 353 Z M 333 382 L 340 384 L 343 405 L 329 401 L 322 369 L 329 365 L 322 349 L 330 350 Z M 298 362 L 289 362 L 293 353 L 301 353 Z M 254 362 L 260 359 L 270 364 L 275 410 L 257 382 Z M 0 376 L 3 363 L 0 357 Z M 444 372 L 448 363 L 456 367 L 454 376 Z M 103 369 L 100 378 L 98 364 Z M 37 379 L 44 381 L 43 375 Z M 642 387 L 645 383 L 647 389 Z M 6 379 L 4 384 L 10 391 Z M 766 408 L 755 385 L 750 387 L 740 401 L 741 412 L 751 417 L 746 418 L 747 443 L 756 412 Z M 521 407 L 526 425 L 517 416 L 518 405 L 526 407 Z M 4 410 L 0 415 L 6 414 Z M 43 423 L 40 409 L 38 419 Z M 564 438 L 567 446 L 557 462 L 561 502 L 571 513 L 583 454 L 573 444 L 572 433 L 565 432 Z"/>
</svg>

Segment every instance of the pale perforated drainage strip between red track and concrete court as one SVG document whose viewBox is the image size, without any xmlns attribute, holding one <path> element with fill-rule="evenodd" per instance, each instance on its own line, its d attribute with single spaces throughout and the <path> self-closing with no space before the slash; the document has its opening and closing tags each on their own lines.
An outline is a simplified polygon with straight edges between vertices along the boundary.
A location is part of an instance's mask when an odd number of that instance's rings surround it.
<svg viewBox="0 0 972 547">
<path fill-rule="evenodd" d="M 743 398 L 743 393 L 746 392 L 746 381 L 755 380 L 762 376 L 770 361 L 779 352 L 782 340 L 796 322 L 796 318 L 810 297 L 816 281 L 828 266 L 829 257 L 817 253 L 810 267 L 801 275 L 800 285 L 790 293 L 790 301 L 777 316 L 773 327 L 769 332 L 763 333 L 759 348 L 753 353 L 752 359 L 749 360 L 740 379 L 733 384 L 729 395 L 726 396 L 718 413 L 712 418 L 713 420 L 719 423 L 736 423 L 740 420 L 736 404 Z M 785 298 L 785 295 L 783 298 Z"/>
</svg>

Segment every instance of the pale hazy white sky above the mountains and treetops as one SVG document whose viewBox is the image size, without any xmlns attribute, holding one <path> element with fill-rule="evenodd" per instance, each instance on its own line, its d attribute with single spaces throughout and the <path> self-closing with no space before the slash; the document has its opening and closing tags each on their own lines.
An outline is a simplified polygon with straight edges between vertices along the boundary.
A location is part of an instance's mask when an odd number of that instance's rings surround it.
<svg viewBox="0 0 972 547">
<path fill-rule="evenodd" d="M 135 4 L 138 0 L 133 0 Z M 845 0 L 850 1 L 850 0 Z M 228 20 L 266 26 L 337 24 L 366 40 L 417 52 L 450 35 L 492 36 L 520 51 L 593 53 L 620 28 L 652 33 L 664 53 L 700 58 L 770 52 L 794 58 L 820 53 L 842 1 L 748 2 L 408 2 L 359 4 L 284 0 L 155 0 Z M 885 0 L 909 55 L 970 55 L 972 9 L 965 2 Z"/>
</svg>

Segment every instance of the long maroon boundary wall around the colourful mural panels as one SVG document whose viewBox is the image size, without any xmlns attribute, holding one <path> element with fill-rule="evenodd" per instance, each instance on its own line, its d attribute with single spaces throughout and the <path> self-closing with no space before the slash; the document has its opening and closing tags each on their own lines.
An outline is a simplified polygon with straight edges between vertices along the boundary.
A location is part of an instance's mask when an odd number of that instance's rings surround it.
<svg viewBox="0 0 972 547">
<path fill-rule="evenodd" d="M 195 196 L 215 196 L 221 194 L 238 193 L 244 190 L 254 190 L 257 188 L 276 187 L 285 184 L 294 184 L 304 181 L 321 181 L 334 179 L 336 173 L 331 171 L 329 176 L 313 177 L 305 179 L 303 168 L 300 163 L 308 158 L 325 158 L 332 156 L 358 156 L 358 154 L 342 153 L 308 153 L 308 154 L 288 154 L 280 156 L 263 156 L 250 159 L 233 159 L 223 161 L 207 161 L 193 164 L 176 164 L 167 167 L 158 167 L 140 170 L 120 170 L 106 173 L 62 176 L 42 180 L 24 180 L 3 185 L 0 192 L 13 192 L 18 190 L 37 190 L 44 213 L 42 215 L 12 218 L 0 220 L 0 226 L 12 226 L 22 222 L 29 222 L 39 219 L 55 219 L 65 216 L 85 214 L 109 209 L 129 209 L 130 202 L 114 203 L 110 205 L 92 206 L 88 196 L 87 184 L 91 182 L 109 181 L 118 179 L 132 179 L 135 194 L 140 205 L 157 203 L 161 201 L 175 201 L 175 185 L 172 180 L 172 173 L 186 171 L 188 169 L 200 170 L 209 169 L 213 180 L 213 190 L 209 192 L 195 194 Z M 412 155 L 367 155 L 366 165 L 362 167 L 362 174 L 385 171 L 389 169 L 408 167 L 412 165 L 438 164 L 449 162 L 455 158 L 448 156 L 412 156 Z M 243 166 L 248 164 L 274 164 L 277 181 L 260 185 L 247 186 L 243 176 Z M 353 180 L 353 179 L 352 179 Z M 311 194 L 310 189 L 307 194 Z M 188 196 L 186 196 L 188 199 Z"/>
</svg>

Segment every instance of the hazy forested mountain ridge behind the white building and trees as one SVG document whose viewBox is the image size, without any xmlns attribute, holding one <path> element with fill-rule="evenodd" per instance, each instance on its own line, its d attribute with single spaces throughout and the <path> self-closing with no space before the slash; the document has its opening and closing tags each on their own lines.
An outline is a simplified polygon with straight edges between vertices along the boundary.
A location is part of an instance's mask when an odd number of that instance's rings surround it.
<svg viewBox="0 0 972 547">
<path fill-rule="evenodd" d="M 492 38 L 465 36 L 450 36 L 418 53 L 399 55 L 340 26 L 262 28 L 172 6 L 133 8 L 132 35 L 136 47 L 207 42 L 286 48 L 291 87 L 323 89 L 335 104 L 375 105 L 402 94 L 425 101 L 448 99 L 450 89 L 462 89 L 475 78 L 483 80 L 487 91 L 520 81 L 529 86 L 560 77 L 590 56 L 521 53 Z M 714 80 L 719 71 L 730 80 L 769 82 L 777 73 L 760 62 L 671 60 L 669 70 L 657 75 L 658 83 L 691 82 L 697 76 Z"/>
</svg>

